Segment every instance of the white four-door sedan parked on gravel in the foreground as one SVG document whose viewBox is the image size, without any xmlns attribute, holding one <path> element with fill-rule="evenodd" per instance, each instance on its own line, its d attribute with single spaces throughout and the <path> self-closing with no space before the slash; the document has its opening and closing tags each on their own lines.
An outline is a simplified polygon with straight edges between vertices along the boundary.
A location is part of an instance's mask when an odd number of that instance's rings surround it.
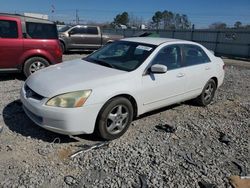
<svg viewBox="0 0 250 188">
<path fill-rule="evenodd" d="M 127 38 L 32 74 L 21 101 L 45 129 L 111 140 L 143 113 L 190 99 L 208 105 L 223 79 L 223 61 L 200 44 Z"/>
</svg>

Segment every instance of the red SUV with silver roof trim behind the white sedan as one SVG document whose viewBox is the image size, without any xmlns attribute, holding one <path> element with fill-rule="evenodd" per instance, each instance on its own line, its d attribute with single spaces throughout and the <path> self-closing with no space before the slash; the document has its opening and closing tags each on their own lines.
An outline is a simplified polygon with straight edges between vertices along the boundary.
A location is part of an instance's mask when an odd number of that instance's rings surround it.
<svg viewBox="0 0 250 188">
<path fill-rule="evenodd" d="M 48 20 L 0 13 L 0 72 L 27 77 L 62 62 L 56 25 Z"/>
</svg>

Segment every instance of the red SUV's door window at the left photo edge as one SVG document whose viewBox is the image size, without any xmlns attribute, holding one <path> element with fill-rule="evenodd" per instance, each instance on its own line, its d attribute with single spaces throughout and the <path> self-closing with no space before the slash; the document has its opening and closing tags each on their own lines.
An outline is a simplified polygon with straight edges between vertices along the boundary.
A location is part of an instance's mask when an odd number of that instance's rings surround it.
<svg viewBox="0 0 250 188">
<path fill-rule="evenodd" d="M 17 23 L 15 21 L 0 20 L 0 38 L 18 38 Z"/>
</svg>

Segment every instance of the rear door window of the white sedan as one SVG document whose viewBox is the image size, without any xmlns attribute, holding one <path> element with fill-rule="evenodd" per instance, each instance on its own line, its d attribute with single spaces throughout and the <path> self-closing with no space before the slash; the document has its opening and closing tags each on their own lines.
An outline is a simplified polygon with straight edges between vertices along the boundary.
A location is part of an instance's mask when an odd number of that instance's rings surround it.
<svg viewBox="0 0 250 188">
<path fill-rule="evenodd" d="M 183 45 L 184 66 L 199 65 L 210 62 L 207 54 L 199 46 Z"/>
</svg>

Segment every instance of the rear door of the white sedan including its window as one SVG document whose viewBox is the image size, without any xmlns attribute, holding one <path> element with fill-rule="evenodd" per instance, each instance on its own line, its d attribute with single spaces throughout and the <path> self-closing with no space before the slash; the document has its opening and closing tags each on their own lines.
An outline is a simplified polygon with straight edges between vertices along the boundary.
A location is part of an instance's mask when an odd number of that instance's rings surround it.
<svg viewBox="0 0 250 188">
<path fill-rule="evenodd" d="M 183 50 L 183 68 L 187 78 L 186 97 L 192 98 L 199 95 L 213 75 L 213 66 L 211 60 L 205 51 L 198 45 L 184 44 Z"/>
</svg>

